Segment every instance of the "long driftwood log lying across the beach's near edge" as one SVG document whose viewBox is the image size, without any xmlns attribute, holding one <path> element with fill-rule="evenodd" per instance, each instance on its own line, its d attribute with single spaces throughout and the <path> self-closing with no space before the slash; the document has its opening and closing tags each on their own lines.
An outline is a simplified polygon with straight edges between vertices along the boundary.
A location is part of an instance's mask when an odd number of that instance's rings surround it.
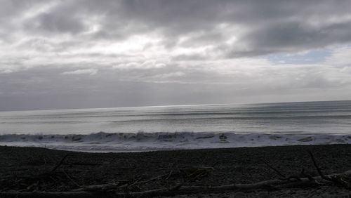
<svg viewBox="0 0 351 198">
<path fill-rule="evenodd" d="M 351 178 L 351 170 L 345 173 L 324 175 L 328 178 Z M 227 191 L 251 191 L 259 189 L 279 189 L 282 187 L 310 187 L 318 185 L 319 183 L 333 183 L 332 180 L 325 180 L 322 176 L 310 178 L 300 178 L 300 180 L 265 180 L 259 183 L 251 184 L 230 184 L 230 185 L 218 185 L 218 186 L 182 186 L 176 189 L 174 188 L 160 188 L 155 190 L 146 190 L 141 192 L 115 192 L 110 187 L 117 183 L 107 185 L 95 185 L 93 187 L 84 189 L 82 191 L 70 191 L 70 192 L 0 192 L 0 197 L 153 197 L 153 196 L 169 196 L 176 194 L 191 194 L 196 192 L 227 192 Z M 109 191 L 110 189 L 110 191 Z M 85 190 L 85 191 L 84 191 Z M 91 191 L 93 190 L 93 191 Z"/>
</svg>

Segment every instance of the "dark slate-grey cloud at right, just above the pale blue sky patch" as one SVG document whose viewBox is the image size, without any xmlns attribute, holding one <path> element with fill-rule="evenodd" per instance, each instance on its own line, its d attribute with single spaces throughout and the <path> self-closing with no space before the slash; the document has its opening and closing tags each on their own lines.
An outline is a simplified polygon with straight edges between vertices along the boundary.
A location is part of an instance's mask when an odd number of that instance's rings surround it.
<svg viewBox="0 0 351 198">
<path fill-rule="evenodd" d="M 351 22 L 338 22 L 324 27 L 309 27 L 301 22 L 284 22 L 256 29 L 243 37 L 241 42 L 249 50 L 233 50 L 229 55 L 234 57 L 265 55 L 277 52 L 298 52 L 312 48 L 322 48 L 332 44 L 343 44 L 351 41 Z"/>
</svg>

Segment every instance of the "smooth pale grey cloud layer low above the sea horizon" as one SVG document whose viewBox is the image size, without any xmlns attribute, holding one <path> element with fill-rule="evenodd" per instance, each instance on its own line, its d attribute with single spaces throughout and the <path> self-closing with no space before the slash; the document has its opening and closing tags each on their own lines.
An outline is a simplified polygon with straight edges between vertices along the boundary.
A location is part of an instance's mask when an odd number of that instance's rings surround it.
<svg viewBox="0 0 351 198">
<path fill-rule="evenodd" d="M 284 67 L 284 70 L 279 70 L 263 65 L 246 70 L 244 65 L 236 70 L 220 71 L 210 66 L 167 65 L 143 72 L 138 67 L 100 67 L 95 72 L 91 68 L 98 68 L 97 65 L 34 67 L 0 74 L 0 108 L 244 103 L 263 95 L 284 98 L 293 94 L 298 98 L 297 94 L 305 98 L 305 95 L 321 95 L 325 91 L 334 93 L 339 90 L 344 95 L 350 93 L 347 90 L 351 91 L 350 74 L 340 74 L 338 68 L 318 65 Z"/>
</svg>

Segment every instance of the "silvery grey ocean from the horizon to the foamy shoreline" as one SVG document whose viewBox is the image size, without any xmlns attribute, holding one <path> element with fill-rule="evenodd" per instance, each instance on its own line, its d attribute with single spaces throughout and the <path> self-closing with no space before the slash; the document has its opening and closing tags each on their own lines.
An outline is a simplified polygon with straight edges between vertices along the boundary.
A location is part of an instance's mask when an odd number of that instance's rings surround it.
<svg viewBox="0 0 351 198">
<path fill-rule="evenodd" d="M 0 145 L 88 152 L 351 143 L 351 100 L 0 112 Z"/>
</svg>

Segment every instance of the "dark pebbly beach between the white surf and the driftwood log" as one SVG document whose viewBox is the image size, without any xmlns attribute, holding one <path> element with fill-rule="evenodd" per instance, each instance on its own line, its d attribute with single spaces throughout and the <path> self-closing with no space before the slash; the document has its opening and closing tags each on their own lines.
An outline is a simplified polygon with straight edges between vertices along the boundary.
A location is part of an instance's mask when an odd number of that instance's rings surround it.
<svg viewBox="0 0 351 198">
<path fill-rule="evenodd" d="M 325 173 L 351 170 L 351 145 L 301 145 L 281 147 L 241 147 L 230 149 L 173 150 L 128 153 L 88 153 L 49 150 L 39 147 L 0 147 L 0 191 L 68 191 L 78 185 L 95 185 L 116 180 L 143 181 L 190 166 L 213 166 L 208 176 L 188 181 L 187 185 L 226 185 L 256 183 L 279 178 L 264 161 L 286 176 L 298 175 L 301 169 L 317 176 L 310 150 Z M 65 163 L 58 167 L 58 178 L 36 176 L 52 169 L 66 154 Z M 63 173 L 67 173 L 68 179 Z M 177 185 L 178 178 L 154 180 L 140 186 L 147 190 Z M 223 192 L 217 194 L 187 194 L 180 197 L 341 197 L 350 196 L 336 186 L 305 189 L 284 189 L 268 192 Z"/>
</svg>

